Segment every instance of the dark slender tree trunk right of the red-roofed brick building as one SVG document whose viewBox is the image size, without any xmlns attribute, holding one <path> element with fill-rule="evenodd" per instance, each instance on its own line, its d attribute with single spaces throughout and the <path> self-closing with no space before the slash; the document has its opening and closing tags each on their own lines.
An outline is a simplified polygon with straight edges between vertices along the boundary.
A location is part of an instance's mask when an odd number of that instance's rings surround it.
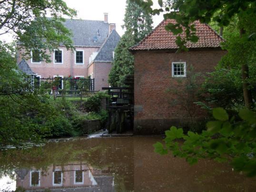
<svg viewBox="0 0 256 192">
<path fill-rule="evenodd" d="M 240 38 L 242 38 L 243 34 L 245 34 L 244 29 L 240 29 Z M 246 62 L 246 61 L 245 61 Z M 243 93 L 244 93 L 244 100 L 246 108 L 250 109 L 252 107 L 253 99 L 251 90 L 248 89 L 248 82 L 247 79 L 249 78 L 249 67 L 248 64 L 245 63 L 242 65 L 242 80 L 243 80 Z"/>
</svg>

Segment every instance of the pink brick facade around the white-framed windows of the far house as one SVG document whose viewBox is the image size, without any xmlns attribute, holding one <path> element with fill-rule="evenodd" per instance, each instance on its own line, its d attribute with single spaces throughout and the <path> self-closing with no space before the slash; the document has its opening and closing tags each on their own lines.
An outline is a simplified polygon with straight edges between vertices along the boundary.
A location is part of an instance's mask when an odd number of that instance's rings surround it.
<svg viewBox="0 0 256 192">
<path fill-rule="evenodd" d="M 31 59 L 28 59 L 27 62 L 33 72 L 37 73 L 41 77 L 53 77 L 56 75 L 59 76 L 88 76 L 88 65 L 90 55 L 97 51 L 98 48 L 88 48 L 88 47 L 76 47 L 77 50 L 84 50 L 84 64 L 78 65 L 75 64 L 75 53 L 72 53 L 71 50 L 67 50 L 65 47 L 59 47 L 63 50 L 63 64 L 54 64 L 53 55 L 50 54 L 51 63 L 46 63 L 42 61 L 40 64 L 31 63 Z M 21 60 L 21 52 L 19 54 L 18 61 Z"/>
</svg>

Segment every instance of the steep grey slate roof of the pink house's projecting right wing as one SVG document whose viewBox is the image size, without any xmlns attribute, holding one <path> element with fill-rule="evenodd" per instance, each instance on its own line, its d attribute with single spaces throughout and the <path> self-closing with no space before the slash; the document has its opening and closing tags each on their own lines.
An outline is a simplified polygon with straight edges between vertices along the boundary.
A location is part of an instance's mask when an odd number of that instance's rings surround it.
<svg viewBox="0 0 256 192">
<path fill-rule="evenodd" d="M 113 51 L 117 47 L 119 40 L 120 36 L 118 35 L 118 32 L 113 29 L 109 37 L 105 40 L 102 47 L 98 50 L 98 54 L 95 57 L 94 61 L 112 62 Z"/>
</svg>

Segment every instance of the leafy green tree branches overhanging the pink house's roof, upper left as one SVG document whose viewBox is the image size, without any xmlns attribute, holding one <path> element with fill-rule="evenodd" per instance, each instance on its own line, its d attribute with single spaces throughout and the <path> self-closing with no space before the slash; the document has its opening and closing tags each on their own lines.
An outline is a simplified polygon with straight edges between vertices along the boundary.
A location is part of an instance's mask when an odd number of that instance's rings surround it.
<svg viewBox="0 0 256 192">
<path fill-rule="evenodd" d="M 49 61 L 47 50 L 52 52 L 60 44 L 73 48 L 62 17 L 74 15 L 76 11 L 63 0 L 1 0 L 0 35 L 13 34 L 24 56 L 30 57 L 30 51 L 36 49 L 41 59 Z"/>
</svg>

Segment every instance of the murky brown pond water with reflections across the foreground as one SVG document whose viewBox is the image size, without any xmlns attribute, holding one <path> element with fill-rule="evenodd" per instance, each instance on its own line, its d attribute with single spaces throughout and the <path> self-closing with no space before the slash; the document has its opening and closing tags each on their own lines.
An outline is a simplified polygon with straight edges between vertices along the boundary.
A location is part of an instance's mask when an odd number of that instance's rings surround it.
<svg viewBox="0 0 256 192">
<path fill-rule="evenodd" d="M 152 144 L 159 140 L 158 136 L 76 138 L 1 151 L 0 191 L 17 187 L 55 192 L 256 191 L 255 178 L 233 172 L 227 164 L 203 160 L 190 166 L 170 154 L 155 154 Z"/>
</svg>

